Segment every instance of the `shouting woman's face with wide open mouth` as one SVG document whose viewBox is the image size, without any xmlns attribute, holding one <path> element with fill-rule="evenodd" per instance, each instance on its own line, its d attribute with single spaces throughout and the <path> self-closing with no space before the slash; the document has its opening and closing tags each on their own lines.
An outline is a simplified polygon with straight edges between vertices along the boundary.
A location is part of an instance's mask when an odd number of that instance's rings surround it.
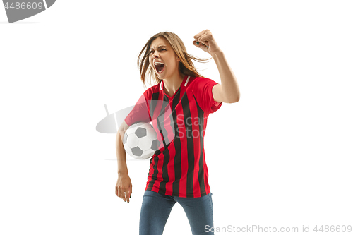
<svg viewBox="0 0 353 235">
<path fill-rule="evenodd" d="M 158 78 L 169 78 L 178 73 L 179 59 L 172 46 L 164 37 L 157 37 L 150 45 L 150 66 L 155 70 Z"/>
</svg>

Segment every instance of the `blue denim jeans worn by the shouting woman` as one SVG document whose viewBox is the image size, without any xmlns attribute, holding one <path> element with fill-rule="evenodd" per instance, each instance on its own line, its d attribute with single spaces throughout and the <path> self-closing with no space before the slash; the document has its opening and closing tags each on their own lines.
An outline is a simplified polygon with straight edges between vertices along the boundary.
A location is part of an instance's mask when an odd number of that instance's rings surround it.
<svg viewBox="0 0 353 235">
<path fill-rule="evenodd" d="M 201 198 L 180 198 L 145 191 L 140 213 L 140 235 L 162 235 L 172 207 L 179 203 L 189 219 L 193 235 L 212 234 L 205 226 L 213 227 L 212 193 Z M 184 224 L 181 224 L 184 226 Z"/>
</svg>

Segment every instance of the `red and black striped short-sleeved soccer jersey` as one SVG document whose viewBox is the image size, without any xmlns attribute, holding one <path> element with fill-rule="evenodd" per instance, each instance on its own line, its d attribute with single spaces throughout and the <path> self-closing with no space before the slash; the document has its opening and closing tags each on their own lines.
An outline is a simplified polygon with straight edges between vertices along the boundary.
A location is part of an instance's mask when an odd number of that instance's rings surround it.
<svg viewBox="0 0 353 235">
<path fill-rule="evenodd" d="M 213 99 L 216 84 L 209 78 L 185 76 L 169 97 L 162 81 L 148 88 L 128 114 L 128 126 L 152 121 L 159 140 L 145 190 L 183 198 L 210 193 L 203 139 L 208 115 L 222 106 Z"/>
</svg>

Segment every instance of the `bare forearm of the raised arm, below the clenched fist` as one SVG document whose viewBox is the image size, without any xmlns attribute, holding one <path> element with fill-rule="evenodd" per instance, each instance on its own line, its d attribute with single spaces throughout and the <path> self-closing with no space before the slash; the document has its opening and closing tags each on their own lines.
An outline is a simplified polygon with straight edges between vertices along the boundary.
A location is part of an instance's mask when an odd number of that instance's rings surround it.
<svg viewBox="0 0 353 235">
<path fill-rule="evenodd" d="M 240 99 L 239 84 L 227 59 L 225 59 L 225 54 L 220 51 L 211 55 L 220 73 L 223 94 L 227 97 L 227 100 L 238 102 Z"/>
</svg>

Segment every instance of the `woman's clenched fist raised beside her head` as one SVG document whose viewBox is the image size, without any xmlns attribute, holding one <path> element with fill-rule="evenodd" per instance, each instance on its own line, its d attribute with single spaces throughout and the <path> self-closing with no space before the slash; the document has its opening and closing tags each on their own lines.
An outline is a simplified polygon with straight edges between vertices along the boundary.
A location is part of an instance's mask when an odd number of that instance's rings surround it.
<svg viewBox="0 0 353 235">
<path fill-rule="evenodd" d="M 203 49 L 204 52 L 210 53 L 211 56 L 212 54 L 222 52 L 210 30 L 203 30 L 202 32 L 199 32 L 197 35 L 193 36 L 193 38 L 196 40 L 193 41 L 193 45 Z"/>
</svg>

